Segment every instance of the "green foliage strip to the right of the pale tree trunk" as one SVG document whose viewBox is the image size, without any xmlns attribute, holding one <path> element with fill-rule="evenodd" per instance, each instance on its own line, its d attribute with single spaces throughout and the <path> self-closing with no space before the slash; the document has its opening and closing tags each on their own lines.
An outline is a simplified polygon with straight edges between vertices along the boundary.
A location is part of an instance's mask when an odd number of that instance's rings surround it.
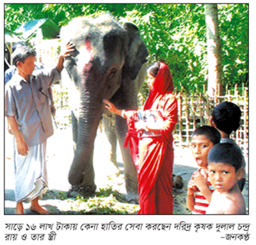
<svg viewBox="0 0 256 245">
<path fill-rule="evenodd" d="M 219 21 L 225 84 L 248 86 L 248 4 L 220 4 Z"/>
</svg>

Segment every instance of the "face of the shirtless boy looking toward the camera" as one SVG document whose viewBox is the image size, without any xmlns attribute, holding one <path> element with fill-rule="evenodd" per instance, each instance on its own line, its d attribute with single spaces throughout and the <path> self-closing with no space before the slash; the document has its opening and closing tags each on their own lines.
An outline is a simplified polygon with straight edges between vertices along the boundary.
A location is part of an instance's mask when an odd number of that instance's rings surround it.
<svg viewBox="0 0 256 245">
<path fill-rule="evenodd" d="M 222 162 L 209 162 L 208 175 L 212 186 L 219 193 L 226 193 L 237 184 L 242 170 Z"/>
</svg>

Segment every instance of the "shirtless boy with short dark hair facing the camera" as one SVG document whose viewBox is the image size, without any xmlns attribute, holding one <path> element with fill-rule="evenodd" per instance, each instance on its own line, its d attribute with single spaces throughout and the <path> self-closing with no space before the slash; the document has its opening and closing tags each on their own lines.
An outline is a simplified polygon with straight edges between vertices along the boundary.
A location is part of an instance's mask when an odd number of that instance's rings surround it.
<svg viewBox="0 0 256 245">
<path fill-rule="evenodd" d="M 212 193 L 207 214 L 246 214 L 243 195 L 237 185 L 243 177 L 243 155 L 232 143 L 220 143 L 208 154 Z"/>
</svg>

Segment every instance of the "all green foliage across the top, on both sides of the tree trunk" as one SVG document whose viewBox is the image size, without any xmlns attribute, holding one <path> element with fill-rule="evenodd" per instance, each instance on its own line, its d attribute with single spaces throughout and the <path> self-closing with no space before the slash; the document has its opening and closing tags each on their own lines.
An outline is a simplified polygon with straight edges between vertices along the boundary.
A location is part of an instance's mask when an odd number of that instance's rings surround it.
<svg viewBox="0 0 256 245">
<path fill-rule="evenodd" d="M 26 10 L 26 11 L 24 11 Z M 177 91 L 200 93 L 207 84 L 204 4 L 5 4 L 5 29 L 31 19 L 50 18 L 59 26 L 77 16 L 111 13 L 138 26 L 147 46 L 148 65 L 163 61 Z M 223 86 L 248 86 L 248 4 L 218 4 Z M 146 85 L 140 101 L 147 97 Z"/>
</svg>

